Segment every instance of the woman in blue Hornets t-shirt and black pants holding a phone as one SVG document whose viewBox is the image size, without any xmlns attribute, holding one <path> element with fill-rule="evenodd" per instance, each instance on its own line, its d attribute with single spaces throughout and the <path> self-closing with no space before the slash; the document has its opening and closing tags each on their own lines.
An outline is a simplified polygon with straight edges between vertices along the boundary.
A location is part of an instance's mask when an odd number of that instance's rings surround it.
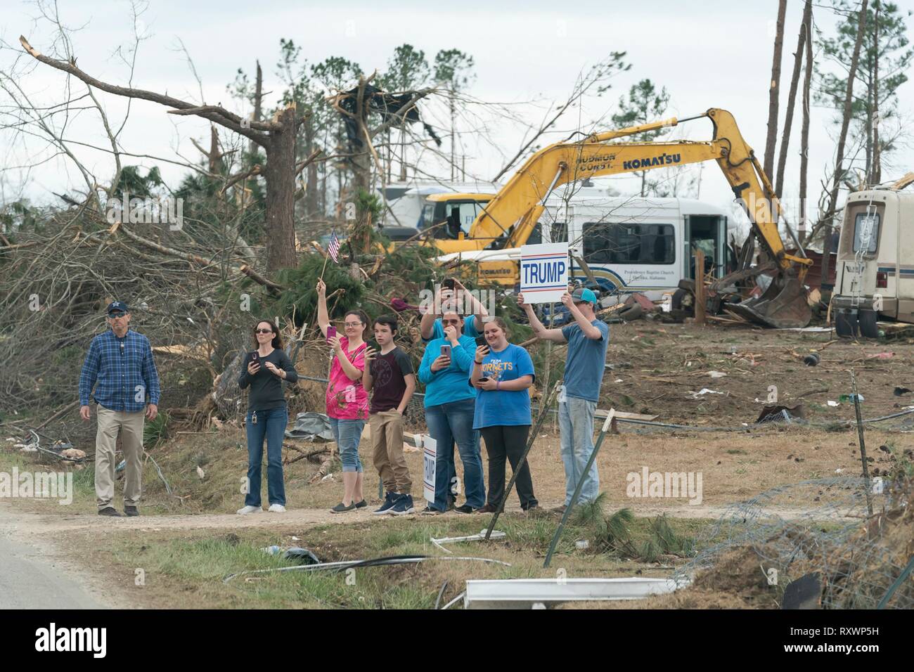
<svg viewBox="0 0 914 672">
<path fill-rule="evenodd" d="M 494 513 L 505 496 L 505 459 L 512 471 L 524 454 L 530 433 L 530 393 L 535 378 L 526 349 L 508 343 L 500 317 L 485 323 L 487 345 L 476 348 L 470 382 L 476 388 L 473 429 L 483 435 L 489 453 L 489 496 L 479 513 Z M 537 507 L 533 480 L 526 461 L 517 472 L 517 496 L 525 511 Z"/>
</svg>

